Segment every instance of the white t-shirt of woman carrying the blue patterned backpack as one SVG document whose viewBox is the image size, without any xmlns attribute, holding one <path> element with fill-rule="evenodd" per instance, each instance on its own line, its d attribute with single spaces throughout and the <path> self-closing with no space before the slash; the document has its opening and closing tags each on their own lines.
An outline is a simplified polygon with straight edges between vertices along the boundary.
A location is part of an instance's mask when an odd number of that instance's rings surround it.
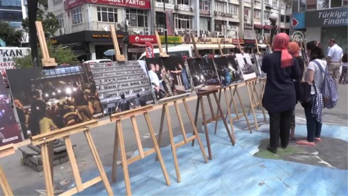
<svg viewBox="0 0 348 196">
<path fill-rule="evenodd" d="M 325 71 L 326 70 L 326 61 L 324 61 L 322 59 L 315 59 L 315 60 L 319 62 L 319 64 L 322 66 L 322 68 Z M 313 82 L 315 84 L 315 87 L 316 87 L 317 91 L 321 92 L 322 86 L 323 86 L 323 82 L 324 82 L 324 77 L 325 77 L 324 73 L 317 66 L 317 64 L 315 62 L 313 62 L 313 61 L 308 63 L 307 69 L 310 69 L 310 70 L 314 71 L 314 81 Z M 307 72 L 307 74 L 308 74 L 308 72 Z M 310 94 L 311 95 L 315 94 L 314 85 L 312 86 Z"/>
</svg>

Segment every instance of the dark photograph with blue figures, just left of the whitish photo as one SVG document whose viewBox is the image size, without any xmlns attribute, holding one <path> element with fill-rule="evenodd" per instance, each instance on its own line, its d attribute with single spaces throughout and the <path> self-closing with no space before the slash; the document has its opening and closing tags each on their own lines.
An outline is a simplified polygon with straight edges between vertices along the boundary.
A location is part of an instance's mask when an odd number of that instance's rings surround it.
<svg viewBox="0 0 348 196">
<path fill-rule="evenodd" d="M 219 56 L 214 58 L 217 74 L 220 78 L 221 86 L 229 86 L 233 83 L 241 82 L 240 69 L 232 55 Z"/>
</svg>

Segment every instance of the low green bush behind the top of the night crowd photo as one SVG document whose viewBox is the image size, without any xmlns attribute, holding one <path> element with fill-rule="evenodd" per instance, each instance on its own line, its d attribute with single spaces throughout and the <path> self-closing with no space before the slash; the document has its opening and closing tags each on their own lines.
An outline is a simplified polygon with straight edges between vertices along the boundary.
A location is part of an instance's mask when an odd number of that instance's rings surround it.
<svg viewBox="0 0 348 196">
<path fill-rule="evenodd" d="M 52 45 L 48 45 L 48 52 L 50 54 L 51 58 L 55 58 L 56 63 L 58 65 L 61 64 L 77 64 L 78 60 L 76 58 L 76 55 L 70 50 L 70 48 L 63 48 L 62 46 L 58 46 L 57 48 L 53 48 Z M 41 50 L 39 50 L 39 58 L 42 58 Z M 13 61 L 15 62 L 16 68 L 30 68 L 34 67 L 32 63 L 32 58 L 30 53 L 23 56 L 22 58 L 14 58 Z"/>
</svg>

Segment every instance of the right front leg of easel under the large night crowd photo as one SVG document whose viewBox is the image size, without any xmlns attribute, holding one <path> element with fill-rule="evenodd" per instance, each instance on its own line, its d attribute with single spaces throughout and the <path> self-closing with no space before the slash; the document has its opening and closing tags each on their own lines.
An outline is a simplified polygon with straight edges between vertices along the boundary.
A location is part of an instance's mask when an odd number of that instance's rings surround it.
<svg viewBox="0 0 348 196">
<path fill-rule="evenodd" d="M 110 186 L 110 183 L 109 183 L 109 180 L 108 180 L 108 176 L 106 176 L 106 173 L 104 171 L 104 167 L 103 167 L 102 161 L 100 160 L 97 148 L 94 145 L 92 135 L 90 134 L 89 129 L 85 130 L 84 133 L 85 133 L 85 136 L 86 136 L 89 148 L 92 151 L 92 155 L 93 155 L 93 158 L 95 160 L 95 164 L 96 164 L 96 166 L 98 168 L 98 171 L 100 173 L 100 177 L 102 178 L 102 181 L 104 183 L 106 192 L 108 192 L 109 196 L 113 196 L 113 191 L 111 189 L 111 186 Z"/>
</svg>

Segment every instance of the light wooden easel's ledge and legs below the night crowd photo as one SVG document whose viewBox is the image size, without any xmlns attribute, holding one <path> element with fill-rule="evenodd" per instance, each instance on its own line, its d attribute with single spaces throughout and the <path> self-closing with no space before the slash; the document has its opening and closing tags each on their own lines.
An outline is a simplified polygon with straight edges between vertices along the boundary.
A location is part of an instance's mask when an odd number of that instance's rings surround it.
<svg viewBox="0 0 348 196">
<path fill-rule="evenodd" d="M 108 180 L 108 177 L 106 176 L 106 173 L 104 171 L 102 162 L 100 160 L 100 157 L 98 155 L 98 151 L 94 145 L 92 135 L 90 134 L 88 126 L 93 126 L 97 124 L 97 120 L 90 120 L 87 122 L 79 123 L 77 125 L 65 127 L 62 129 L 50 131 L 47 133 L 43 133 L 40 135 L 32 136 L 31 137 L 31 143 L 32 145 L 40 145 L 41 146 L 41 156 L 42 156 L 42 166 L 44 167 L 44 174 L 45 174 L 45 184 L 46 184 L 46 191 L 47 196 L 54 196 L 54 190 L 53 190 L 53 181 L 52 181 L 52 175 L 51 175 L 51 169 L 49 164 L 49 158 L 48 158 L 48 142 L 52 142 L 59 138 L 64 138 L 66 151 L 68 152 L 68 157 L 72 169 L 72 173 L 75 179 L 76 187 L 65 191 L 64 193 L 60 195 L 73 195 L 78 192 L 83 191 L 84 189 L 93 186 L 94 184 L 103 181 L 106 192 L 109 196 L 113 196 L 113 192 Z M 88 146 L 90 150 L 92 151 L 93 158 L 95 160 L 96 166 L 98 168 L 98 171 L 100 173 L 100 176 L 97 176 L 93 178 L 92 180 L 89 180 L 87 182 L 82 183 L 81 176 L 77 167 L 77 161 L 75 158 L 75 154 L 72 148 L 72 143 L 70 140 L 70 135 L 84 132 Z"/>
</svg>

